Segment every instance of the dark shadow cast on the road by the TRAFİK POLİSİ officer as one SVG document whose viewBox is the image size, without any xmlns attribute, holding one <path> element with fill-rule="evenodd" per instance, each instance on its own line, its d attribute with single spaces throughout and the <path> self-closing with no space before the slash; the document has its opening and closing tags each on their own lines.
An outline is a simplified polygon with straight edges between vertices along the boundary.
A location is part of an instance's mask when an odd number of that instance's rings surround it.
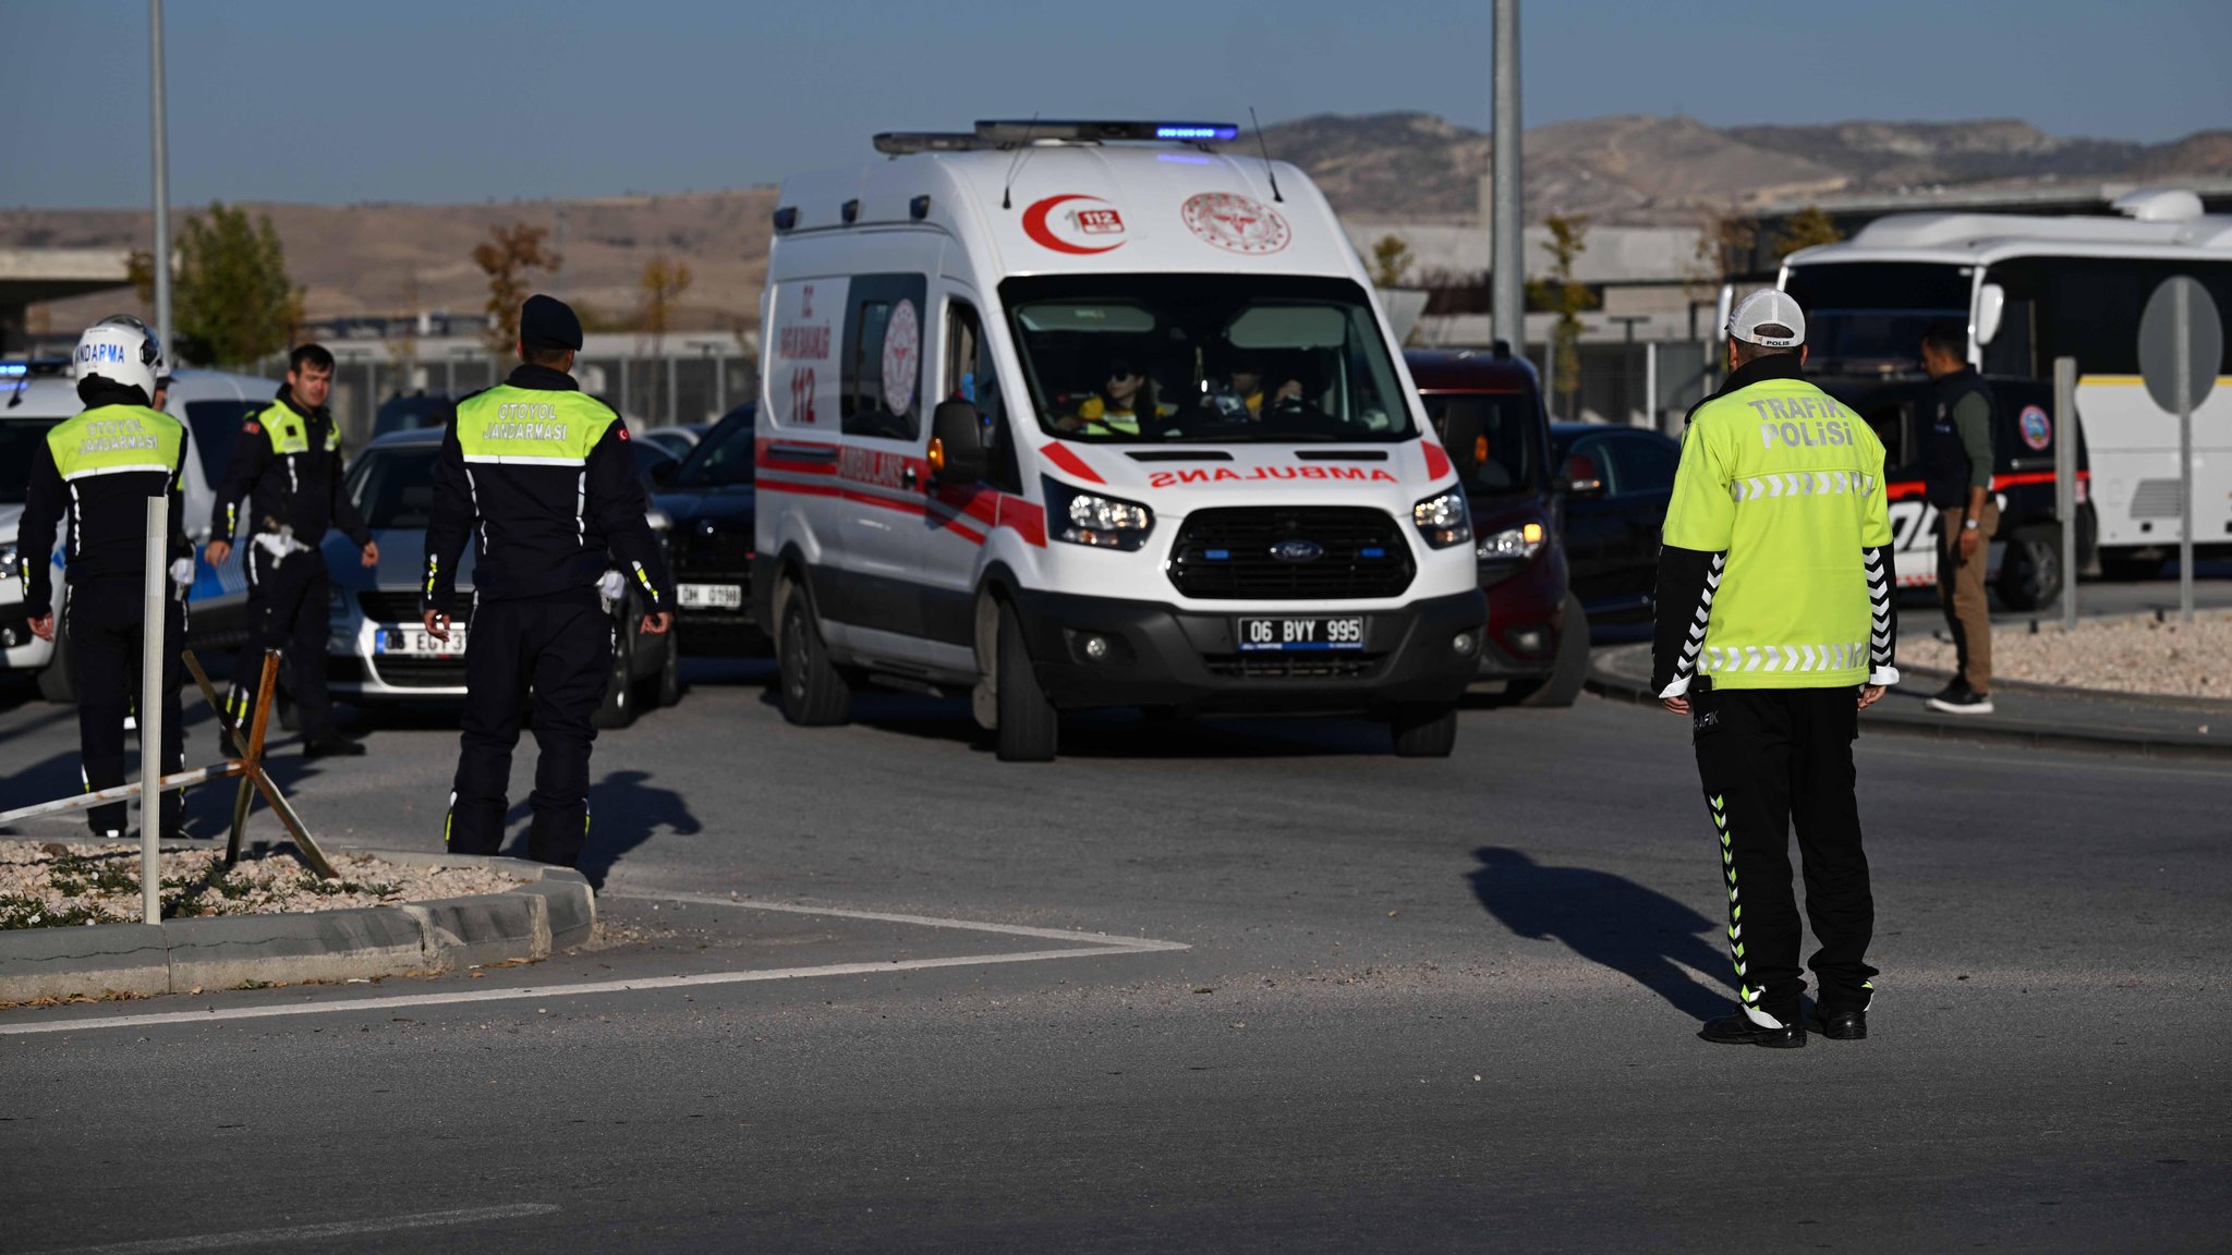
<svg viewBox="0 0 2232 1255">
<path fill-rule="evenodd" d="M 1705 916 L 1609 871 L 1545 866 L 1502 846 L 1473 858 L 1473 895 L 1513 933 L 1565 942 L 1701 1021 L 1728 1009 L 1728 956 L 1705 940 L 1721 927 Z"/>
</svg>

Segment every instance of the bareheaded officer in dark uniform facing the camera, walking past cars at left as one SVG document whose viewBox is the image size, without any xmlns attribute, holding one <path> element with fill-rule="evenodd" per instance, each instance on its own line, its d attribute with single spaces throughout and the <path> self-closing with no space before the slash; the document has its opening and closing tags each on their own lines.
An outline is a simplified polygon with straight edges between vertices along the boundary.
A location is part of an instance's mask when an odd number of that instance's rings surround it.
<svg viewBox="0 0 2232 1255">
<path fill-rule="evenodd" d="M 333 596 L 319 547 L 326 529 L 339 527 L 364 552 L 366 567 L 379 565 L 379 545 L 341 491 L 341 431 L 326 409 L 330 393 L 333 353 L 319 344 L 297 346 L 288 355 L 279 397 L 241 424 L 210 518 L 212 567 L 232 554 L 232 538 L 248 527 L 241 554 L 248 645 L 232 665 L 230 712 L 246 724 L 263 674 L 263 650 L 286 650 L 304 757 L 364 753 L 333 728 L 333 699 L 326 697 L 326 598 Z"/>
</svg>

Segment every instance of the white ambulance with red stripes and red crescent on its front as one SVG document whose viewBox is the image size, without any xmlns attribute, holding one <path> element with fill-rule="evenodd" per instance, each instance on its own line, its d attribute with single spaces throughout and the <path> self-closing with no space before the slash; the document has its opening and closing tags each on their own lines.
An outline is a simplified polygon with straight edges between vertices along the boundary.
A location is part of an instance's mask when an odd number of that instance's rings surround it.
<svg viewBox="0 0 2232 1255">
<path fill-rule="evenodd" d="M 1364 266 L 1230 125 L 879 134 L 786 179 L 752 596 L 783 715 L 1370 712 L 1449 755 L 1480 665 L 1466 494 Z"/>
</svg>

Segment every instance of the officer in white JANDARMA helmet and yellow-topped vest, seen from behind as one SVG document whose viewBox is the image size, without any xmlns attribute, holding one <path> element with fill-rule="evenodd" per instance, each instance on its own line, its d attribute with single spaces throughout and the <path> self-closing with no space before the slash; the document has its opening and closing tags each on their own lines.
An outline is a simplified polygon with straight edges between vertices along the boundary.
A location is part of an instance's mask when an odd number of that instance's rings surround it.
<svg viewBox="0 0 2232 1255">
<path fill-rule="evenodd" d="M 85 413 L 56 424 L 31 449 L 31 480 L 18 523 L 22 603 L 31 632 L 54 639 L 56 529 L 69 518 L 65 576 L 69 668 L 78 688 L 78 753 L 85 788 L 125 782 L 125 712 L 138 694 L 145 619 L 147 498 L 170 496 L 172 596 L 163 614 L 163 753 L 165 773 L 185 770 L 185 721 L 179 715 L 179 650 L 185 643 L 185 587 L 194 583 L 194 547 L 185 538 L 185 427 L 152 409 L 163 348 L 136 317 L 109 317 L 78 337 L 74 355 Z M 158 804 L 158 835 L 179 835 L 179 795 Z M 125 835 L 125 804 L 89 813 L 94 835 Z"/>
</svg>

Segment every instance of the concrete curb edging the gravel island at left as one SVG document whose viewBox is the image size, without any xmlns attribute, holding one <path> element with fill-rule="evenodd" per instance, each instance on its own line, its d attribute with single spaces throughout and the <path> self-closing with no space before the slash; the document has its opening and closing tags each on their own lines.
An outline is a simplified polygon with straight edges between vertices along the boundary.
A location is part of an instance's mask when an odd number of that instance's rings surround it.
<svg viewBox="0 0 2232 1255">
<path fill-rule="evenodd" d="M 299 985 L 540 960 L 596 929 L 596 895 L 567 866 L 516 858 L 371 853 L 388 862 L 487 866 L 527 880 L 507 893 L 402 907 L 214 916 L 167 925 L 0 931 L 0 1003 Z"/>
</svg>

